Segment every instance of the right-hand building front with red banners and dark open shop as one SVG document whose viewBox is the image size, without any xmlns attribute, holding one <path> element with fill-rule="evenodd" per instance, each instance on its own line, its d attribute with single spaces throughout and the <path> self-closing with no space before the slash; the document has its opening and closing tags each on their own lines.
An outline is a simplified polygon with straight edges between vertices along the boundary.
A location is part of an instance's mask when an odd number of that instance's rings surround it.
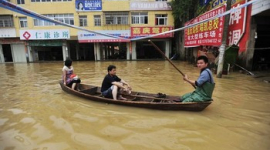
<svg viewBox="0 0 270 150">
<path fill-rule="evenodd" d="M 232 1 L 231 8 L 249 2 L 250 0 Z M 224 12 L 226 0 L 213 0 L 210 3 L 209 11 L 192 19 L 193 23 L 209 19 L 216 14 Z M 224 7 L 224 8 L 222 8 Z M 220 11 L 223 9 L 222 11 Z M 215 26 L 215 22 L 217 23 Z M 236 63 L 249 70 L 263 70 L 270 68 L 270 1 L 258 0 L 254 4 L 238 9 L 230 13 L 228 25 L 227 46 L 237 45 L 239 49 Z M 224 18 L 209 20 L 195 27 L 185 30 L 185 46 L 192 47 L 193 57 L 201 54 L 214 54 L 211 61 L 218 59 L 218 48 L 221 45 Z M 206 53 L 207 52 L 207 53 Z M 209 53 L 208 53 L 209 52 Z M 236 53 L 237 53 L 236 52 Z M 226 53 L 226 52 L 225 52 Z M 209 55 L 208 55 L 209 57 Z M 226 58 L 225 58 L 226 60 Z M 233 64 L 230 64 L 233 65 Z M 224 66 L 228 66 L 225 62 Z M 224 68 L 227 70 L 227 68 Z"/>
</svg>

